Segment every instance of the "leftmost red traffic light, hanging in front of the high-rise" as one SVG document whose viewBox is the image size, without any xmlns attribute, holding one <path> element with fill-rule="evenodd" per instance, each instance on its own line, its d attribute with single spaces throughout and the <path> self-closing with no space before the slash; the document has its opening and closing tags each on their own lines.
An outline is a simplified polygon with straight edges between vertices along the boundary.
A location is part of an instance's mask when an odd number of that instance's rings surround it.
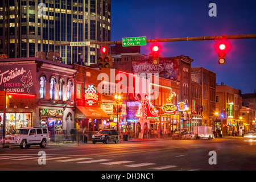
<svg viewBox="0 0 256 182">
<path fill-rule="evenodd" d="M 98 57 L 98 67 L 101 68 L 113 68 L 112 56 L 108 53 L 108 47 L 103 46 L 100 49 L 102 56 Z"/>
</svg>

